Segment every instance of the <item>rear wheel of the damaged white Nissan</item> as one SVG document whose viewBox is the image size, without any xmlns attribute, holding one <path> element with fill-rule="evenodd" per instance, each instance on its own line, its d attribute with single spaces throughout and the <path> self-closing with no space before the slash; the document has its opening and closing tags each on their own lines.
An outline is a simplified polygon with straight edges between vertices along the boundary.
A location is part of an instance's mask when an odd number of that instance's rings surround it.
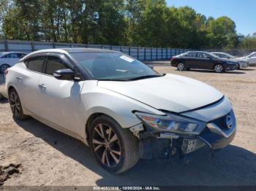
<svg viewBox="0 0 256 191">
<path fill-rule="evenodd" d="M 28 118 L 27 115 L 23 114 L 20 98 L 18 96 L 17 91 L 14 88 L 10 90 L 9 102 L 12 110 L 12 116 L 15 118 L 15 120 L 25 120 L 26 118 Z"/>
</svg>

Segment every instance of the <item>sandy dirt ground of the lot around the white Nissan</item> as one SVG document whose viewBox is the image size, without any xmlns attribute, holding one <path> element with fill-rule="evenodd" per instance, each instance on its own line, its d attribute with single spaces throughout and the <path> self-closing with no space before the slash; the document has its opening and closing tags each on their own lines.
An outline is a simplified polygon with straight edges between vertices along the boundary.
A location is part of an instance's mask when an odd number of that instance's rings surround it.
<svg viewBox="0 0 256 191">
<path fill-rule="evenodd" d="M 4 100 L 0 102 L 0 169 L 19 165 L 4 185 L 256 185 L 256 68 L 215 74 L 176 71 L 162 64 L 154 69 L 199 79 L 230 98 L 238 125 L 230 146 L 214 157 L 203 149 L 188 165 L 140 160 L 126 173 L 112 175 L 97 165 L 89 147 L 80 141 L 37 120 L 15 122 Z"/>
</svg>

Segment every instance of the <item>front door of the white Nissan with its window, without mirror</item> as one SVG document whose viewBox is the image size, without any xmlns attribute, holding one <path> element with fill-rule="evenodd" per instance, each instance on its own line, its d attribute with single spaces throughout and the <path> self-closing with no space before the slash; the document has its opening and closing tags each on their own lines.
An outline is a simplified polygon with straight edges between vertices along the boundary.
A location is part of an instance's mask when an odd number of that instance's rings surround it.
<svg viewBox="0 0 256 191">
<path fill-rule="evenodd" d="M 39 116 L 55 125 L 56 128 L 78 133 L 81 115 L 80 91 L 83 81 L 60 80 L 53 77 L 59 69 L 72 69 L 74 66 L 64 55 L 48 54 L 45 62 L 45 75 L 39 80 Z M 77 122 L 77 123 L 76 123 Z"/>
</svg>

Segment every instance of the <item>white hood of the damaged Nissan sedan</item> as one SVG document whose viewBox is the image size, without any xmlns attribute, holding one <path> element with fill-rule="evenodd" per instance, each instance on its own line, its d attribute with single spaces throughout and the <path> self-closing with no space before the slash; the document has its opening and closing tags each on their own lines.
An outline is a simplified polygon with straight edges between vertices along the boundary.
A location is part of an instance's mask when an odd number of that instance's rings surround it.
<svg viewBox="0 0 256 191">
<path fill-rule="evenodd" d="M 98 86 L 170 112 L 186 112 L 214 103 L 223 94 L 195 79 L 174 74 L 127 82 L 99 81 Z"/>
</svg>

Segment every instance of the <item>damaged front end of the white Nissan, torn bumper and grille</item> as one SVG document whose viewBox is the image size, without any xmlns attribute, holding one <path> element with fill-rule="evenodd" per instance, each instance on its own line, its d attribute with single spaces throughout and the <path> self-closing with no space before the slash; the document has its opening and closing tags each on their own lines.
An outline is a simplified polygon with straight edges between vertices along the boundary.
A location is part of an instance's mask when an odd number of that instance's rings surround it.
<svg viewBox="0 0 256 191">
<path fill-rule="evenodd" d="M 198 136 L 181 136 L 165 131 L 154 132 L 146 124 L 138 127 L 134 127 L 132 131 L 137 132 L 140 139 L 140 157 L 168 159 L 176 156 L 185 157 L 203 147 L 208 147 L 211 152 L 227 147 L 236 135 L 236 117 L 232 110 L 225 116 L 208 122 Z M 136 131 L 136 128 L 140 130 Z"/>
</svg>

